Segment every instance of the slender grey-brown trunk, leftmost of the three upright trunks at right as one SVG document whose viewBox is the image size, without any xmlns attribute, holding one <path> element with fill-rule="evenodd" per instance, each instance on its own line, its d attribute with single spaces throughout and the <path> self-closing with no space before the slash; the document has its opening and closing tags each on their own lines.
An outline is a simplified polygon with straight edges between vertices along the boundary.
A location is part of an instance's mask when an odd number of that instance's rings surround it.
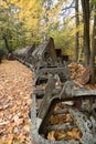
<svg viewBox="0 0 96 144">
<path fill-rule="evenodd" d="M 76 14 L 76 29 L 79 25 L 79 17 L 78 17 L 78 0 L 75 0 L 75 14 Z M 78 60 L 78 49 L 79 49 L 79 41 L 78 41 L 79 32 L 77 31 L 75 34 L 75 61 Z"/>
</svg>

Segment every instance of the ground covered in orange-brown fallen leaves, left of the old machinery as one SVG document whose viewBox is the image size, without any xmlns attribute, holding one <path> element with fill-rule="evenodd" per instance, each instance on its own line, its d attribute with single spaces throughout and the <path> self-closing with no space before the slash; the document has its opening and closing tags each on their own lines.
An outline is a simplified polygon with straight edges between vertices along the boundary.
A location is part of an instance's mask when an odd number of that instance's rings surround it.
<svg viewBox="0 0 96 144">
<path fill-rule="evenodd" d="M 31 144 L 32 72 L 18 61 L 0 64 L 0 144 Z"/>
</svg>

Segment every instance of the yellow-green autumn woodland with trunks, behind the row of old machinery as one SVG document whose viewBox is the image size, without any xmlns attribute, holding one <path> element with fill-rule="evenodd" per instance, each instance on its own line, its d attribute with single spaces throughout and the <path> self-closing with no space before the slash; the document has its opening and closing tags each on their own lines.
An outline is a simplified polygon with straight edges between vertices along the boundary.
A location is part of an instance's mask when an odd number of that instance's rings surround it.
<svg viewBox="0 0 96 144">
<path fill-rule="evenodd" d="M 0 0 L 0 59 L 52 37 L 55 48 L 95 75 L 96 0 Z"/>
</svg>

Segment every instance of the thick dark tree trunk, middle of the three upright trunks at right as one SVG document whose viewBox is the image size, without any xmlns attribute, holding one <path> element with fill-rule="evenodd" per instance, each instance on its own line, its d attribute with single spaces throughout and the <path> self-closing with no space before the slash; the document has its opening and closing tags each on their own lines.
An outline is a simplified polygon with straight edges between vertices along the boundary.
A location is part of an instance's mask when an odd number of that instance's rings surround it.
<svg viewBox="0 0 96 144">
<path fill-rule="evenodd" d="M 89 44 L 89 0 L 82 0 L 83 19 L 84 19 L 84 54 L 85 62 L 89 64 L 90 44 Z"/>
</svg>

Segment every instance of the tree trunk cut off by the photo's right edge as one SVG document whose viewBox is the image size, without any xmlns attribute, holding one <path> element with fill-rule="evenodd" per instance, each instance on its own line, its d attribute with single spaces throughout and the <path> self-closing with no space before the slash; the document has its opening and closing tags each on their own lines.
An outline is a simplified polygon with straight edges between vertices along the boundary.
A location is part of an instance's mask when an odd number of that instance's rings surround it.
<svg viewBox="0 0 96 144">
<path fill-rule="evenodd" d="M 95 6 L 96 9 L 96 6 Z M 90 53 L 90 70 L 92 70 L 92 76 L 90 76 L 90 83 L 95 83 L 95 55 L 96 55 L 96 11 L 94 17 L 94 28 L 93 28 L 93 38 L 92 38 L 92 53 Z"/>
</svg>

